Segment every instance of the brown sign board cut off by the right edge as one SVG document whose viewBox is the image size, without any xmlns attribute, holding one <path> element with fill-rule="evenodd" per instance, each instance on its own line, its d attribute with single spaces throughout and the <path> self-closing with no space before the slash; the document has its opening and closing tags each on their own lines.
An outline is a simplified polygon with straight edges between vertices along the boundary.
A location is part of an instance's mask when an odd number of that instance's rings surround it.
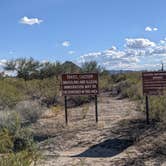
<svg viewBox="0 0 166 166">
<path fill-rule="evenodd" d="M 143 72 L 143 94 L 162 95 L 166 90 L 166 72 Z"/>
</svg>

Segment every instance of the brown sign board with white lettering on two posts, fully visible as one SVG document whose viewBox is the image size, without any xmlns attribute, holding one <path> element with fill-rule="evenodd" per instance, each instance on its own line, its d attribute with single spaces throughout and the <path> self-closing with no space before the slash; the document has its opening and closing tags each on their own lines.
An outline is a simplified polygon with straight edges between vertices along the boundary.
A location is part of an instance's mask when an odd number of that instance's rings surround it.
<svg viewBox="0 0 166 166">
<path fill-rule="evenodd" d="M 97 95 L 98 74 L 63 74 L 62 95 Z"/>
</svg>

